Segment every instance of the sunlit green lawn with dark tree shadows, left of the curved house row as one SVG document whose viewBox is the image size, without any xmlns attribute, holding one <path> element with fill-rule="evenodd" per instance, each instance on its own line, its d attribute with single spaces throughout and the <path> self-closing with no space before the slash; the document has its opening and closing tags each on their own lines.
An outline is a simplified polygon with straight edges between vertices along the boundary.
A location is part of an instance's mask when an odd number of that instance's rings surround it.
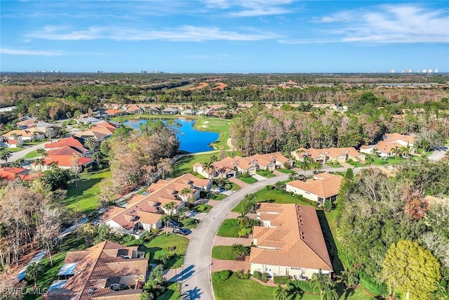
<svg viewBox="0 0 449 300">
<path fill-rule="evenodd" d="M 96 172 L 79 174 L 78 187 L 70 183 L 67 188 L 67 199 L 62 203 L 69 209 L 75 209 L 82 214 L 90 214 L 98 208 L 98 194 L 100 193 L 100 181 L 109 177 L 111 171 L 101 170 Z"/>
</svg>

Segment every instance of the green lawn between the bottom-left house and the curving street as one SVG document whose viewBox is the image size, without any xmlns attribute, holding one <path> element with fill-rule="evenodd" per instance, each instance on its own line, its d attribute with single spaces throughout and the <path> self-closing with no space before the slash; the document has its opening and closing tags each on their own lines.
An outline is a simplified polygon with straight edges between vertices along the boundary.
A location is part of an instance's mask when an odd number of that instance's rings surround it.
<svg viewBox="0 0 449 300">
<path fill-rule="evenodd" d="M 182 265 L 182 261 L 184 261 L 185 250 L 187 249 L 187 243 L 189 239 L 187 237 L 182 237 L 180 235 L 169 234 L 165 235 L 165 233 L 159 235 L 159 237 L 154 238 L 153 240 L 145 243 L 139 249 L 141 251 L 149 252 L 150 254 L 150 263 L 159 263 L 154 259 L 154 256 L 160 254 L 175 254 L 171 259 L 167 261 L 168 268 L 177 268 Z M 169 251 L 167 247 L 175 246 L 176 249 L 173 251 Z"/>
</svg>

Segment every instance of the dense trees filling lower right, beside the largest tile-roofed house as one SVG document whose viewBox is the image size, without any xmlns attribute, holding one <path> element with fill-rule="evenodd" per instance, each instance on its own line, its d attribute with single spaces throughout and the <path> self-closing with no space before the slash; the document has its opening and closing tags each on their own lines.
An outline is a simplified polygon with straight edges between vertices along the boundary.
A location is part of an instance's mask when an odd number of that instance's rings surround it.
<svg viewBox="0 0 449 300">
<path fill-rule="evenodd" d="M 385 289 L 377 289 L 377 292 L 385 293 L 389 287 L 390 294 L 396 291 L 405 296 L 406 292 L 410 292 L 411 285 L 400 285 L 394 280 L 391 282 L 390 276 L 397 276 L 398 272 L 391 261 L 396 265 L 398 261 L 408 261 L 410 268 L 415 270 L 414 277 L 406 280 L 412 280 L 413 285 L 424 288 L 430 271 L 419 267 L 422 263 L 419 260 L 427 256 L 429 261 L 437 261 L 438 270 L 432 270 L 435 272 L 431 277 L 433 281 L 424 289 L 433 292 L 437 280 L 449 278 L 449 204 L 424 200 L 425 195 L 447 197 L 449 179 L 444 170 L 448 167 L 448 161 L 408 162 L 400 167 L 394 177 L 385 176 L 379 169 L 366 169 L 357 178 L 349 176 L 345 179 L 338 200 L 337 228 L 343 244 L 339 257 L 349 272 L 356 274 L 358 281 L 377 286 L 384 284 Z M 423 250 L 418 246 L 402 245 L 401 241 L 405 240 L 417 242 Z M 409 256 L 399 257 L 395 250 L 390 249 L 394 244 L 397 247 L 415 247 L 410 253 L 427 251 L 429 254 L 416 256 L 402 250 L 403 255 Z M 387 253 L 390 257 L 385 261 Z M 425 265 L 430 266 L 430 262 Z M 406 276 L 409 270 L 403 272 L 401 274 Z M 426 276 L 427 279 L 424 278 Z M 448 285 L 448 282 L 443 282 L 443 285 Z M 427 299 L 427 292 L 417 297 L 412 291 L 413 299 Z"/>
</svg>

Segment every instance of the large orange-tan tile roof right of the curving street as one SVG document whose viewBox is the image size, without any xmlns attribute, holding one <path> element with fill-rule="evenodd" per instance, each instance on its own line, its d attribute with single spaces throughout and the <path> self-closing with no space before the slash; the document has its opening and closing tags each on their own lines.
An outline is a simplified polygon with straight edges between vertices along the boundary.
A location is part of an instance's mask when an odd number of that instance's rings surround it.
<svg viewBox="0 0 449 300">
<path fill-rule="evenodd" d="M 272 226 L 255 226 L 250 263 L 272 266 L 333 270 L 318 216 L 313 207 L 297 204 L 260 203 L 257 212 L 265 211 Z M 268 214 L 270 212 L 270 214 Z M 276 221 L 276 222 L 274 222 Z"/>
</svg>

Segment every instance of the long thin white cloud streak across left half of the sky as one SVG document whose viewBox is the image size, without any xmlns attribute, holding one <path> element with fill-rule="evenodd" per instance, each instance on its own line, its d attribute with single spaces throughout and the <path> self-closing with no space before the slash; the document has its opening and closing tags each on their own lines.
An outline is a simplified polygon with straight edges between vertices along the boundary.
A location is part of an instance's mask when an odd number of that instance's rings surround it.
<svg viewBox="0 0 449 300">
<path fill-rule="evenodd" d="M 248 30 L 240 33 L 232 30 L 221 30 L 218 27 L 196 27 L 185 25 L 170 30 L 138 30 L 123 27 L 89 27 L 85 30 L 72 30 L 67 27 L 44 27 L 43 30 L 26 35 L 29 39 L 48 40 L 93 40 L 111 39 L 116 41 L 261 41 L 278 39 L 279 35 L 269 32 Z"/>
</svg>

